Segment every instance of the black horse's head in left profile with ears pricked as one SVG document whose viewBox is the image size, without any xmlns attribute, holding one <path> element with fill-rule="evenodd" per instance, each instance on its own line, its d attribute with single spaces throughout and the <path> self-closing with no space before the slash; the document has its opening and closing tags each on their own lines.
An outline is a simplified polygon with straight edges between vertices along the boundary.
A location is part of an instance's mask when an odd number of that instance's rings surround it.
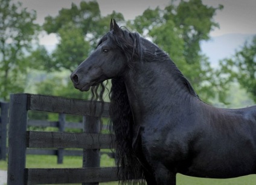
<svg viewBox="0 0 256 185">
<path fill-rule="evenodd" d="M 115 20 L 111 19 L 110 31 L 101 38 L 94 52 L 71 74 L 75 88 L 88 91 L 91 86 L 124 73 L 127 58 L 124 49 L 117 44 L 123 32 Z"/>
</svg>

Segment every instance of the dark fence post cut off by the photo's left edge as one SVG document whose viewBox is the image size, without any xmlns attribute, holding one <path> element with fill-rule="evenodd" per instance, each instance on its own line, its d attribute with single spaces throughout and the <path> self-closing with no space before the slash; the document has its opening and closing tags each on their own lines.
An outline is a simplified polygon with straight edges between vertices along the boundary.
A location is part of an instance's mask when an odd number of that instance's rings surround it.
<svg viewBox="0 0 256 185">
<path fill-rule="evenodd" d="M 7 124 L 9 103 L 0 102 L 0 160 L 6 160 L 7 154 Z"/>
</svg>

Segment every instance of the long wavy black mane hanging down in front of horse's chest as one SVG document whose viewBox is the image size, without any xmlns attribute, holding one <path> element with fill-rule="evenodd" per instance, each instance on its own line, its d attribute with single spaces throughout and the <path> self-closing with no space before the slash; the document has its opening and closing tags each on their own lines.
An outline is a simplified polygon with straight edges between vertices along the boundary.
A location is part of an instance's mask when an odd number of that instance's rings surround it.
<svg viewBox="0 0 256 185">
<path fill-rule="evenodd" d="M 120 168 L 118 174 L 122 183 L 144 184 L 143 166 L 132 148 L 133 115 L 126 85 L 121 78 L 112 79 L 109 115 L 115 133 L 117 166 Z"/>
</svg>

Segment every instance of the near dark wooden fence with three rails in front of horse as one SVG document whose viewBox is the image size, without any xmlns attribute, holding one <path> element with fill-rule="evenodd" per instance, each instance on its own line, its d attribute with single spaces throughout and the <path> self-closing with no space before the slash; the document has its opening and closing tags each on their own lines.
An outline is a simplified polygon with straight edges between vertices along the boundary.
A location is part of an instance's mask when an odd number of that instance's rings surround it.
<svg viewBox="0 0 256 185">
<path fill-rule="evenodd" d="M 103 117 L 108 117 L 108 104 Z M 83 115 L 84 133 L 27 131 L 28 111 Z M 100 103 L 94 116 L 88 101 L 34 94 L 11 94 L 7 184 L 69 184 L 117 181 L 117 168 L 100 168 L 100 149 L 110 135 L 100 133 Z M 83 168 L 25 168 L 27 148 L 83 148 Z"/>
</svg>

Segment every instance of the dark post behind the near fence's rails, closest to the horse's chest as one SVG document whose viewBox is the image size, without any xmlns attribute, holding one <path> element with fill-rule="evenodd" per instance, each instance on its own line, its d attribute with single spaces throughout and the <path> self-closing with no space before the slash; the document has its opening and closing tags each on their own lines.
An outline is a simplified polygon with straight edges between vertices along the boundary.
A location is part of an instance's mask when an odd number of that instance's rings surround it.
<svg viewBox="0 0 256 185">
<path fill-rule="evenodd" d="M 85 133 L 100 133 L 100 118 L 83 117 L 83 131 Z M 100 167 L 100 149 L 83 149 L 83 168 Z M 82 183 L 82 185 L 92 185 L 98 183 Z"/>
</svg>

